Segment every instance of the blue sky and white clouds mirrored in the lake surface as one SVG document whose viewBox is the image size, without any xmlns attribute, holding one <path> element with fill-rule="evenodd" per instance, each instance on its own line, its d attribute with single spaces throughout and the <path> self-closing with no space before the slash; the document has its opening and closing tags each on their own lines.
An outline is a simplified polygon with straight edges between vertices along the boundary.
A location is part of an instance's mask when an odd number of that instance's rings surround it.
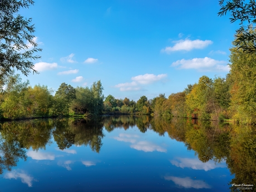
<svg viewBox="0 0 256 192">
<path fill-rule="evenodd" d="M 184 142 L 145 127 L 104 127 L 100 140 L 97 134 L 84 144 L 75 139 L 63 150 L 51 136 L 45 149 L 28 149 L 26 161 L 4 170 L 1 191 L 229 191 L 234 176 L 223 160 L 203 163 Z"/>
</svg>

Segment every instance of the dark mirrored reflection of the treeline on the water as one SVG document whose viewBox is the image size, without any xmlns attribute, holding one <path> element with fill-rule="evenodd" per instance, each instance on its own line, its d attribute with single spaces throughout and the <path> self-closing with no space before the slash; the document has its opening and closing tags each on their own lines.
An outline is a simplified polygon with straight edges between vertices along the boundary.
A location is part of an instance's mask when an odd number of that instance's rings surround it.
<svg viewBox="0 0 256 192">
<path fill-rule="evenodd" d="M 4 169 L 11 170 L 19 159 L 26 160 L 26 149 L 45 149 L 53 140 L 60 150 L 84 145 L 100 152 L 104 127 L 107 132 L 138 127 L 142 133 L 152 130 L 159 136 L 168 135 L 184 142 L 203 163 L 225 161 L 230 173 L 234 174 L 230 184 L 256 185 L 255 127 L 151 116 L 4 122 L 0 130 L 0 174 Z"/>
</svg>

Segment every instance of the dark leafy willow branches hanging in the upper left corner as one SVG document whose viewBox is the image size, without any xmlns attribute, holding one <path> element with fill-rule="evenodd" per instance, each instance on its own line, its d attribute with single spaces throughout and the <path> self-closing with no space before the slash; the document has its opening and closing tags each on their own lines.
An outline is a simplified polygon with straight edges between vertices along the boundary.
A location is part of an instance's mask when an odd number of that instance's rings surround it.
<svg viewBox="0 0 256 192">
<path fill-rule="evenodd" d="M 21 71 L 23 75 L 37 71 L 33 68 L 32 60 L 40 58 L 34 55 L 41 51 L 36 48 L 36 38 L 33 36 L 35 27 L 32 19 L 25 19 L 18 14 L 19 9 L 28 8 L 32 0 L 0 1 L 0 88 L 3 91 L 4 80 L 13 74 L 13 69 Z"/>
</svg>

